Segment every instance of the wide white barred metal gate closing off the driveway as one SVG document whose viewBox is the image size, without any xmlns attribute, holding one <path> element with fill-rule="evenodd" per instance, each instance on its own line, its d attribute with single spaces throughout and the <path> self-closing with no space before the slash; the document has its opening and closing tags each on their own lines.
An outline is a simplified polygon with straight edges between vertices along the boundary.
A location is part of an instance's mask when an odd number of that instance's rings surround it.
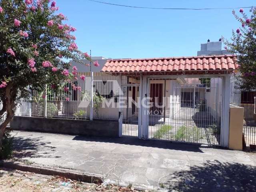
<svg viewBox="0 0 256 192">
<path fill-rule="evenodd" d="M 149 78 L 148 138 L 220 145 L 222 77 Z"/>
</svg>

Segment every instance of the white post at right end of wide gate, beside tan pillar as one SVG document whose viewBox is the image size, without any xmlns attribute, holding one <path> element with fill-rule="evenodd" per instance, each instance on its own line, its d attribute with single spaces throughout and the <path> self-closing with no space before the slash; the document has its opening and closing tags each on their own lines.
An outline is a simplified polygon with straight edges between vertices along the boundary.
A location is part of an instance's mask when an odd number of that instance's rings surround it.
<svg viewBox="0 0 256 192">
<path fill-rule="evenodd" d="M 230 116 L 230 74 L 223 78 L 222 126 L 220 145 L 228 147 L 229 142 L 229 116 Z"/>
</svg>

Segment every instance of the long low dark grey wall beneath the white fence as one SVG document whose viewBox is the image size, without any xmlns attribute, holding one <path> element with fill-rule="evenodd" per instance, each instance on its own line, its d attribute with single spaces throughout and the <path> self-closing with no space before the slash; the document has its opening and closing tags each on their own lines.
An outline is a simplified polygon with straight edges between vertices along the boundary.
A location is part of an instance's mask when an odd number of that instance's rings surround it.
<svg viewBox="0 0 256 192">
<path fill-rule="evenodd" d="M 57 118 L 15 116 L 13 130 L 72 134 L 85 136 L 118 137 L 118 121 L 71 120 Z"/>
</svg>

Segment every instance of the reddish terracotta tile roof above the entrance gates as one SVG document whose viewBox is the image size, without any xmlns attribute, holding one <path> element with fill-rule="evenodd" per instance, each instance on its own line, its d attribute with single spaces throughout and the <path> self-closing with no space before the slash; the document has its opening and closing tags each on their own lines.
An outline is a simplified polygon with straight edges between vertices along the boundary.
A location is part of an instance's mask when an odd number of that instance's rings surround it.
<svg viewBox="0 0 256 192">
<path fill-rule="evenodd" d="M 107 60 L 102 72 L 173 72 L 211 70 L 220 73 L 238 68 L 235 55 Z"/>
</svg>

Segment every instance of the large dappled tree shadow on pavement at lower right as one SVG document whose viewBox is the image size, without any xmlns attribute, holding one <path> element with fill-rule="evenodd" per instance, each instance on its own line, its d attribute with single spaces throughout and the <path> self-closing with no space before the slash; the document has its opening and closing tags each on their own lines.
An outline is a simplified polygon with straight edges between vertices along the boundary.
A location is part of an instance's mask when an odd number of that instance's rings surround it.
<svg viewBox="0 0 256 192">
<path fill-rule="evenodd" d="M 190 170 L 177 171 L 166 186 L 182 192 L 255 192 L 256 167 L 239 163 L 207 161 Z"/>
</svg>

